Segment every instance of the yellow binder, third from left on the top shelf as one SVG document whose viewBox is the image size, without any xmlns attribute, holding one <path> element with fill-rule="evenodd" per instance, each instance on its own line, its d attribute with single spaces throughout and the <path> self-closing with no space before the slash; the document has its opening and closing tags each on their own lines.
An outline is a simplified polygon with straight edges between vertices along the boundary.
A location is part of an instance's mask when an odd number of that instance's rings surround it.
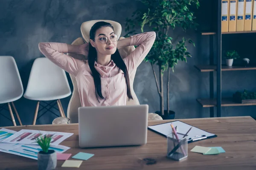
<svg viewBox="0 0 256 170">
<path fill-rule="evenodd" d="M 237 21 L 236 21 L 236 31 L 244 31 L 244 8 L 245 0 L 238 0 L 237 3 Z"/>
</svg>

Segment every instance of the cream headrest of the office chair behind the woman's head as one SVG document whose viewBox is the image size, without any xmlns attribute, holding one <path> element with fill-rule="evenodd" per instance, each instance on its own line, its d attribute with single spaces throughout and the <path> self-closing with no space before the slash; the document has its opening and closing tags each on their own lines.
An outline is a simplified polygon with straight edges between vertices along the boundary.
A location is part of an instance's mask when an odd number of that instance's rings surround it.
<svg viewBox="0 0 256 170">
<path fill-rule="evenodd" d="M 121 32 L 122 32 L 121 24 L 117 23 L 116 21 L 111 21 L 111 20 L 90 20 L 90 21 L 86 21 L 86 22 L 81 24 L 81 34 L 82 34 L 85 42 L 89 42 L 89 40 L 90 40 L 90 29 L 92 28 L 92 26 L 95 23 L 97 23 L 99 21 L 104 21 L 104 22 L 107 22 L 107 23 L 111 23 L 111 25 L 114 27 L 115 34 L 117 35 L 117 40 L 119 40 L 119 37 L 120 37 Z"/>
</svg>

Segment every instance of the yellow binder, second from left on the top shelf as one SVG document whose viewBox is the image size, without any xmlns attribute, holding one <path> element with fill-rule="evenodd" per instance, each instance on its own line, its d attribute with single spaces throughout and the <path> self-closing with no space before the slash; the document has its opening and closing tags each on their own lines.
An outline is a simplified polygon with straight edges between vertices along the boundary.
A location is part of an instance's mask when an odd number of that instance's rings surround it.
<svg viewBox="0 0 256 170">
<path fill-rule="evenodd" d="M 229 21 L 228 21 L 228 31 L 236 31 L 236 4 L 237 0 L 230 0 L 230 10 L 229 10 Z"/>
</svg>

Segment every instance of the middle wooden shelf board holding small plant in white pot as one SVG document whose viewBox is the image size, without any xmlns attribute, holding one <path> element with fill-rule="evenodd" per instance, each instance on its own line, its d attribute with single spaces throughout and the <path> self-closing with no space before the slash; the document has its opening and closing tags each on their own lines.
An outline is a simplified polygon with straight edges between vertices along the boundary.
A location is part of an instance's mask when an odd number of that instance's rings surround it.
<svg viewBox="0 0 256 170">
<path fill-rule="evenodd" d="M 217 71 L 216 65 L 195 65 L 195 68 L 201 72 Z M 247 67 L 233 65 L 231 67 L 227 65 L 221 66 L 221 71 L 239 71 L 239 70 L 256 70 L 256 65 L 250 65 Z"/>
</svg>

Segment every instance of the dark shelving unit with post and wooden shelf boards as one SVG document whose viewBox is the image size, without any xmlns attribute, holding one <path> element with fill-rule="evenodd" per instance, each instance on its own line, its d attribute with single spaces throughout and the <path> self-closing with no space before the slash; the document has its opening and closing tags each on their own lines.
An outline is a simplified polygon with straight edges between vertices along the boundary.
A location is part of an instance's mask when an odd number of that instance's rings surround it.
<svg viewBox="0 0 256 170">
<path fill-rule="evenodd" d="M 216 1 L 215 1 L 216 2 Z M 245 71 L 256 70 L 256 65 L 244 66 L 232 66 L 228 67 L 221 64 L 221 40 L 225 34 L 250 34 L 256 33 L 256 31 L 237 31 L 237 32 L 221 32 L 221 0 L 216 2 L 214 8 L 217 9 L 217 20 L 214 30 L 216 31 L 202 31 L 202 36 L 209 36 L 210 41 L 210 56 L 209 65 L 195 65 L 195 68 L 200 72 L 209 72 L 209 99 L 196 99 L 203 108 L 210 109 L 210 117 L 214 117 L 214 108 L 217 108 L 217 117 L 221 117 L 221 107 L 231 106 L 249 106 L 256 105 L 256 103 L 237 103 L 233 102 L 232 98 L 221 97 L 221 72 L 222 71 Z M 214 59 L 216 63 L 214 63 Z M 216 72 L 216 82 L 214 82 L 214 72 Z M 216 84 L 215 84 L 216 83 Z M 214 85 L 216 85 L 216 98 L 214 97 Z"/>
</svg>

